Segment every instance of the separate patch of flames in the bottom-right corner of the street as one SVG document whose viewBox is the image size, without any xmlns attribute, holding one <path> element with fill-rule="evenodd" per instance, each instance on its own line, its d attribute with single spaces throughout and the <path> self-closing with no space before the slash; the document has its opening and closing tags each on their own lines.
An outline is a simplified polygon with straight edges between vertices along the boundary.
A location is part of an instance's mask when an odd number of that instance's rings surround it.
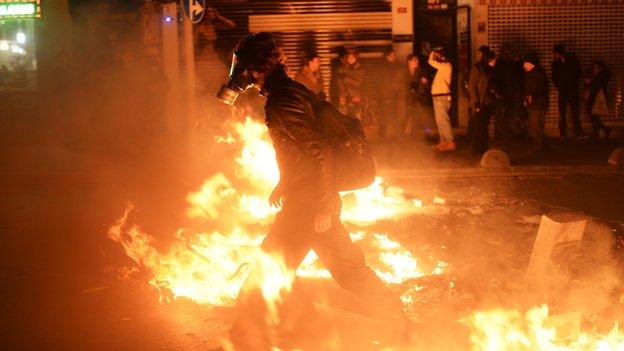
<svg viewBox="0 0 624 351">
<path fill-rule="evenodd" d="M 534 307 L 525 314 L 516 309 L 479 311 L 463 322 L 471 327 L 470 340 L 475 351 L 624 350 L 624 333 L 617 323 L 604 334 L 582 332 L 578 314 L 549 316 L 547 305 Z M 567 324 L 567 328 L 557 328 L 562 324 Z"/>
</svg>

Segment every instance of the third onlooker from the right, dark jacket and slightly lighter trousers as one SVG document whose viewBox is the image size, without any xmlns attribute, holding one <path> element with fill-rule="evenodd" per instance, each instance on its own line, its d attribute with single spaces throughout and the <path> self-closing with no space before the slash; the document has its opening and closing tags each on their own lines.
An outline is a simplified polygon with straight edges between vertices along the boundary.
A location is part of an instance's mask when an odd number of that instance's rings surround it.
<svg viewBox="0 0 624 351">
<path fill-rule="evenodd" d="M 548 110 L 548 79 L 539 65 L 537 54 L 531 52 L 523 60 L 524 104 L 529 110 L 529 131 L 533 150 L 544 149 L 544 123 Z"/>
</svg>

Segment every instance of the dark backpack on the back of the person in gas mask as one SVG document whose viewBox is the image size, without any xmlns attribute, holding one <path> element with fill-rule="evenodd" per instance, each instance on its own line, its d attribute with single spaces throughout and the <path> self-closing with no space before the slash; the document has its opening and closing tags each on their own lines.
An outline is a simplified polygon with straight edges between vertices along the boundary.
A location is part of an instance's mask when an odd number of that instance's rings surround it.
<svg viewBox="0 0 624 351">
<path fill-rule="evenodd" d="M 312 108 L 319 132 L 332 147 L 336 190 L 355 190 L 372 184 L 377 166 L 360 120 L 340 113 L 325 101 L 323 93 L 312 97 Z"/>
</svg>

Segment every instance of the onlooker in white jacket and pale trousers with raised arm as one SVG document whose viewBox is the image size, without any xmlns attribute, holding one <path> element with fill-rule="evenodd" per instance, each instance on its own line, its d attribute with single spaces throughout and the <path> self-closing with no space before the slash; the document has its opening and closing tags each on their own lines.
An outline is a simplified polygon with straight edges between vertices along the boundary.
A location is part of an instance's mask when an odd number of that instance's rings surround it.
<svg viewBox="0 0 624 351">
<path fill-rule="evenodd" d="M 434 146 L 439 151 L 455 150 L 451 118 L 448 114 L 451 108 L 451 76 L 453 66 L 444 55 L 444 48 L 433 49 L 429 54 L 429 65 L 437 71 L 431 85 L 431 97 L 433 100 L 433 112 L 440 142 Z"/>
</svg>

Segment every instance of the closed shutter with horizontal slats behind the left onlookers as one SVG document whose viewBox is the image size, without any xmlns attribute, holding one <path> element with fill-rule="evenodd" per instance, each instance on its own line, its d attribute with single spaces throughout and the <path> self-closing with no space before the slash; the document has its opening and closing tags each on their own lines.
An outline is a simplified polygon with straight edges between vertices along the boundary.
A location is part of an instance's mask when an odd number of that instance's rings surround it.
<svg viewBox="0 0 624 351">
<path fill-rule="evenodd" d="M 374 95 L 377 63 L 384 48 L 392 43 L 391 1 L 215 1 L 211 4 L 219 14 L 235 22 L 236 27 L 217 28 L 215 38 L 196 42 L 196 47 L 213 45 L 220 59 L 219 65 L 215 65 L 209 62 L 214 57 L 196 55 L 198 81 L 209 76 L 225 80 L 224 67 L 229 68 L 229 54 L 236 43 L 249 32 L 269 31 L 279 35 L 288 57 L 289 74 L 293 76 L 301 67 L 305 51 L 320 54 L 327 91 L 332 73 L 330 61 L 336 57 L 337 48 L 355 47 L 367 73 L 365 94 Z"/>
</svg>

